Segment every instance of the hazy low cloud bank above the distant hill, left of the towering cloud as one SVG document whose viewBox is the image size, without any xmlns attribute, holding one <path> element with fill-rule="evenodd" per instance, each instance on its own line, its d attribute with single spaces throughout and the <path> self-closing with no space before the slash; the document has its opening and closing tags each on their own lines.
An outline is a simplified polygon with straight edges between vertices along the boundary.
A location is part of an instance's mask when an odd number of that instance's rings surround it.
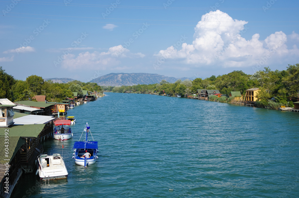
<svg viewBox="0 0 299 198">
<path fill-rule="evenodd" d="M 94 51 L 80 53 L 77 57 L 74 54 L 69 54 L 62 61 L 62 67 L 72 69 L 96 69 L 105 70 L 107 67 L 120 64 L 122 58 L 143 58 L 145 55 L 141 53 L 132 54 L 122 45 L 117 45 L 109 48 L 107 52 Z M 119 69 L 120 67 L 118 67 Z"/>
</svg>

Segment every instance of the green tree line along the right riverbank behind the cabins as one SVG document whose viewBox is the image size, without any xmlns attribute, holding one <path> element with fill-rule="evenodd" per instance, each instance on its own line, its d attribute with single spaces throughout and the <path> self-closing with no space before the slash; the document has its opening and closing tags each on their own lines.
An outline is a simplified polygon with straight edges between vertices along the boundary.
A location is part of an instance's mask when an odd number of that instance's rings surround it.
<svg viewBox="0 0 299 198">
<path fill-rule="evenodd" d="M 291 101 L 298 101 L 299 64 L 289 65 L 285 70 L 271 71 L 269 67 L 256 71 L 254 74 L 245 74 L 243 71 L 232 71 L 228 74 L 194 80 L 177 80 L 169 83 L 162 80 L 160 83 L 133 86 L 102 86 L 108 92 L 140 92 L 157 93 L 159 95 L 191 95 L 197 89 L 217 89 L 223 95 L 231 91 L 240 91 L 245 96 L 246 89 L 260 88 L 257 95 L 257 106 L 266 107 L 268 100 L 275 97 L 277 103 L 288 105 Z M 292 106 L 292 102 L 291 102 Z"/>
</svg>

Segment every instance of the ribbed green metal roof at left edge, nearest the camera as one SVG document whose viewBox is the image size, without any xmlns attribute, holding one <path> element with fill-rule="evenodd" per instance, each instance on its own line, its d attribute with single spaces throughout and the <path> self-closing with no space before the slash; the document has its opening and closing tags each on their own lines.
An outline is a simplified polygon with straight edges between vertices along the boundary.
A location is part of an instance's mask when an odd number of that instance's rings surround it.
<svg viewBox="0 0 299 198">
<path fill-rule="evenodd" d="M 7 128 L 9 129 L 9 128 Z M 4 130 L 3 130 L 4 131 Z M 18 150 L 26 143 L 25 140 L 23 140 L 21 137 L 12 137 L 10 136 L 10 130 L 8 132 L 8 137 L 5 138 L 5 136 L 0 136 L 0 164 L 4 164 L 5 162 L 10 163 L 10 161 L 13 159 L 13 157 L 16 155 Z M 5 139 L 8 139 L 8 141 L 5 141 Z M 9 142 L 9 144 L 5 144 L 5 142 Z M 8 145 L 8 154 L 5 154 L 5 145 Z M 8 159 L 8 160 L 5 160 Z"/>
</svg>

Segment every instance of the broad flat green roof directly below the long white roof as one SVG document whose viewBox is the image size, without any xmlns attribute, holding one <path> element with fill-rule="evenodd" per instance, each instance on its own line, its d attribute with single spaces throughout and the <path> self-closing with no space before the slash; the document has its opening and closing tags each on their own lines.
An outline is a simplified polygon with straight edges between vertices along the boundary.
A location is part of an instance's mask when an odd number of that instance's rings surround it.
<svg viewBox="0 0 299 198">
<path fill-rule="evenodd" d="M 4 136 L 4 129 L 7 129 L 9 130 L 9 136 L 12 137 L 37 138 L 44 127 L 45 124 L 12 125 L 11 127 L 0 130 L 0 136 Z"/>
</svg>

